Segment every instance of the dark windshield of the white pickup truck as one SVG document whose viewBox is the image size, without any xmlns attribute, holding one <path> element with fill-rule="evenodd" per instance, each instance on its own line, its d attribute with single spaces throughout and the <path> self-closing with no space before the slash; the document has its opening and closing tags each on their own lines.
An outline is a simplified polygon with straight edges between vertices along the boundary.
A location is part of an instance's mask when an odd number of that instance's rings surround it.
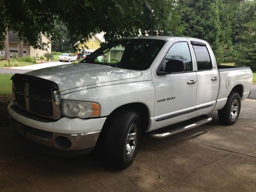
<svg viewBox="0 0 256 192">
<path fill-rule="evenodd" d="M 97 49 L 82 62 L 112 67 L 146 70 L 162 49 L 165 40 L 121 39 Z"/>
</svg>

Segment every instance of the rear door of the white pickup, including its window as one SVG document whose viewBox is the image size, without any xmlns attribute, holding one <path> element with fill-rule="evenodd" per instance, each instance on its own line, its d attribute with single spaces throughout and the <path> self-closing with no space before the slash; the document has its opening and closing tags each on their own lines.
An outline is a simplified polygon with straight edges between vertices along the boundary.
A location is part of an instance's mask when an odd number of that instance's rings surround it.
<svg viewBox="0 0 256 192">
<path fill-rule="evenodd" d="M 209 113 L 216 104 L 219 91 L 219 73 L 209 45 L 191 42 L 197 63 L 197 98 L 195 109 L 200 114 Z M 213 65 L 214 64 L 214 65 Z"/>
</svg>

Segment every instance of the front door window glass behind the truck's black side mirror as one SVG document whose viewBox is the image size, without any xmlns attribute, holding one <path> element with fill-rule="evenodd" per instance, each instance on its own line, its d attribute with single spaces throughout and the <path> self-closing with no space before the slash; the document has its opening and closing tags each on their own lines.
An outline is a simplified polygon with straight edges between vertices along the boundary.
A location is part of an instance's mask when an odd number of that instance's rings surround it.
<svg viewBox="0 0 256 192">
<path fill-rule="evenodd" d="M 170 59 L 181 59 L 185 62 L 185 71 L 193 71 L 191 55 L 187 42 L 177 42 L 174 44 L 165 55 L 165 63 Z"/>
</svg>

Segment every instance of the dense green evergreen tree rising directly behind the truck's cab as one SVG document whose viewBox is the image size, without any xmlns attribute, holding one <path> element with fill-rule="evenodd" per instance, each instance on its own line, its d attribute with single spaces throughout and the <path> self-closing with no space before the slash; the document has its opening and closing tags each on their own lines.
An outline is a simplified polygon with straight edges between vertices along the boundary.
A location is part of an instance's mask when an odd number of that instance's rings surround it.
<svg viewBox="0 0 256 192">
<path fill-rule="evenodd" d="M 219 1 L 211 0 L 180 0 L 177 11 L 184 27 L 182 35 L 204 39 L 211 45 L 220 62 L 221 23 L 219 16 Z"/>
</svg>

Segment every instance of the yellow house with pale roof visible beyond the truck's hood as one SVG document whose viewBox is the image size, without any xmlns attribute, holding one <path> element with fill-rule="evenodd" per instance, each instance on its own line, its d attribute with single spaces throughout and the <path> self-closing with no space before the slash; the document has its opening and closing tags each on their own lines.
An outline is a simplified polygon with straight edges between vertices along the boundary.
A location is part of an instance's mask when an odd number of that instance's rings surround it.
<svg viewBox="0 0 256 192">
<path fill-rule="evenodd" d="M 103 32 L 93 35 L 92 38 L 89 38 L 86 42 L 83 42 L 83 44 L 81 44 L 80 41 L 76 44 L 79 52 L 92 53 L 96 49 L 100 48 L 100 44 L 102 42 L 105 42 Z"/>
</svg>

